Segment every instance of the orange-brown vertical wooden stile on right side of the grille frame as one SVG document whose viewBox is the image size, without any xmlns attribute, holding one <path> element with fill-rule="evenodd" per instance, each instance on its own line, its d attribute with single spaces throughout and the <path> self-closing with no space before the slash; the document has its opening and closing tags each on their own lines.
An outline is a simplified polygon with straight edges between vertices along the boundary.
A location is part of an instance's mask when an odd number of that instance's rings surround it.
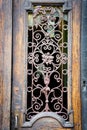
<svg viewBox="0 0 87 130">
<path fill-rule="evenodd" d="M 81 0 L 73 0 L 72 105 L 74 110 L 74 130 L 82 129 L 80 83 L 81 2 Z"/>
</svg>

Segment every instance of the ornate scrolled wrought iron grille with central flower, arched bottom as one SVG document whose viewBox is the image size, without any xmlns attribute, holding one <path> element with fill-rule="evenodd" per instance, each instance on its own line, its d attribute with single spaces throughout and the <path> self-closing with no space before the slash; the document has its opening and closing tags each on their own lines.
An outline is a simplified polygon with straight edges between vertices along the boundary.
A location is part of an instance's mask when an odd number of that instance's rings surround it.
<svg viewBox="0 0 87 130">
<path fill-rule="evenodd" d="M 68 120 L 68 15 L 62 6 L 28 14 L 27 114 L 55 112 Z"/>
</svg>

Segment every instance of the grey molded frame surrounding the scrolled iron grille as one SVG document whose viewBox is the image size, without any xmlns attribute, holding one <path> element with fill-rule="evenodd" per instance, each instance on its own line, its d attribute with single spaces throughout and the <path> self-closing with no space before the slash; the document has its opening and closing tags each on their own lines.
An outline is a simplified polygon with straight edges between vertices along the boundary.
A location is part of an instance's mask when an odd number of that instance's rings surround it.
<svg viewBox="0 0 87 130">
<path fill-rule="evenodd" d="M 44 2 L 44 4 L 45 5 L 47 5 L 48 3 L 49 3 L 50 1 L 49 0 L 47 0 L 46 2 Z M 28 16 L 28 13 L 29 12 L 32 12 L 33 11 L 33 5 L 38 5 L 38 3 L 39 4 L 42 4 L 43 5 L 43 2 L 41 2 L 41 1 L 31 1 L 31 3 L 29 2 L 29 1 L 26 1 L 26 3 L 27 4 L 25 4 L 25 10 L 26 10 L 26 14 L 25 14 L 25 16 L 26 16 L 26 20 L 25 21 L 27 21 L 27 16 Z M 68 29 L 68 31 L 69 31 L 69 36 L 68 36 L 68 42 L 70 43 L 69 45 L 68 45 L 68 53 L 69 53 L 69 57 L 68 57 L 68 77 L 69 77 L 69 79 L 68 79 L 68 113 L 69 113 L 69 122 L 65 122 L 62 118 L 61 118 L 61 120 L 59 119 L 60 117 L 56 117 L 55 116 L 55 119 L 57 119 L 60 123 L 61 123 L 61 125 L 63 126 L 63 127 L 73 127 L 73 110 L 72 110 L 72 106 L 71 106 L 71 45 L 72 45 L 72 41 L 71 41 L 71 39 L 72 39 L 72 19 L 71 19 L 71 17 L 72 17 L 72 13 L 71 13 L 71 4 L 69 4 L 70 6 L 69 7 L 66 7 L 66 4 L 64 4 L 65 3 L 65 1 L 62 1 L 62 2 L 57 2 L 58 3 L 58 5 L 60 4 L 60 5 L 63 5 L 63 7 L 64 7 L 64 10 L 65 10 L 65 13 L 66 12 L 68 12 L 68 23 L 69 23 L 69 29 Z M 51 1 L 51 3 L 50 4 L 57 4 L 56 3 L 56 1 Z M 27 5 L 27 6 L 26 6 Z M 67 9 L 66 9 L 67 8 Z M 26 30 L 27 30 L 27 26 L 28 26 L 28 23 L 26 23 Z M 26 42 L 27 42 L 27 38 L 28 38 L 28 35 L 27 35 L 27 31 L 25 32 L 25 39 L 26 39 Z M 26 59 L 27 59 L 27 47 L 25 47 L 25 50 L 26 50 Z M 26 60 L 27 61 L 27 60 Z M 26 68 L 26 66 L 27 66 L 27 63 L 25 63 L 25 68 Z M 26 68 L 26 70 L 27 70 L 27 68 Z M 26 75 L 27 75 L 27 73 L 25 74 L 25 77 L 26 77 Z M 25 85 L 27 84 L 27 77 L 26 77 L 26 79 L 25 79 Z M 26 99 L 27 98 L 27 95 L 26 95 L 26 88 L 25 88 L 25 91 L 24 91 L 24 93 L 23 93 L 23 97 L 25 97 L 25 98 L 23 98 L 23 99 Z M 25 96 L 26 95 L 26 96 Z M 25 101 L 24 101 L 25 102 Z M 24 105 L 23 105 L 23 111 L 25 112 L 26 111 L 26 103 L 24 103 Z M 26 112 L 25 112 L 26 113 Z M 43 115 L 43 114 L 42 114 Z M 48 115 L 48 116 L 47 116 Z M 50 117 L 50 114 L 48 113 L 44 113 L 44 116 L 45 117 Z M 24 127 L 25 126 L 32 126 L 32 124 L 38 119 L 38 118 L 41 118 L 41 117 L 43 117 L 43 116 L 41 116 L 41 114 L 38 114 L 38 116 L 37 117 L 35 117 L 34 119 L 32 119 L 30 122 L 26 122 L 25 121 L 25 123 L 24 123 Z M 65 122 L 65 123 L 64 123 Z"/>
</svg>

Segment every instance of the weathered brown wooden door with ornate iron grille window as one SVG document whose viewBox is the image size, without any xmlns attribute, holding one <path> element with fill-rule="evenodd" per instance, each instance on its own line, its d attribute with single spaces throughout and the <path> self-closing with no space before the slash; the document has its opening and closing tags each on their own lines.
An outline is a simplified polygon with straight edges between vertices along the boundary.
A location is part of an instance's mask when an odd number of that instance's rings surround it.
<svg viewBox="0 0 87 130">
<path fill-rule="evenodd" d="M 80 8 L 13 0 L 12 130 L 81 130 Z"/>
</svg>

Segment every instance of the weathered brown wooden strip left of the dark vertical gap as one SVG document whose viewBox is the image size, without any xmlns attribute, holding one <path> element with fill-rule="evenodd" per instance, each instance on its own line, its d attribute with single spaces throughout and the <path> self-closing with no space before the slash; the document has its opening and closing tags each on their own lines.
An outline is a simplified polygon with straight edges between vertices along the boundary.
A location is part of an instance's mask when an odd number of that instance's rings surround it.
<svg viewBox="0 0 87 130">
<path fill-rule="evenodd" d="M 10 130 L 12 0 L 0 0 L 0 130 Z"/>
</svg>

